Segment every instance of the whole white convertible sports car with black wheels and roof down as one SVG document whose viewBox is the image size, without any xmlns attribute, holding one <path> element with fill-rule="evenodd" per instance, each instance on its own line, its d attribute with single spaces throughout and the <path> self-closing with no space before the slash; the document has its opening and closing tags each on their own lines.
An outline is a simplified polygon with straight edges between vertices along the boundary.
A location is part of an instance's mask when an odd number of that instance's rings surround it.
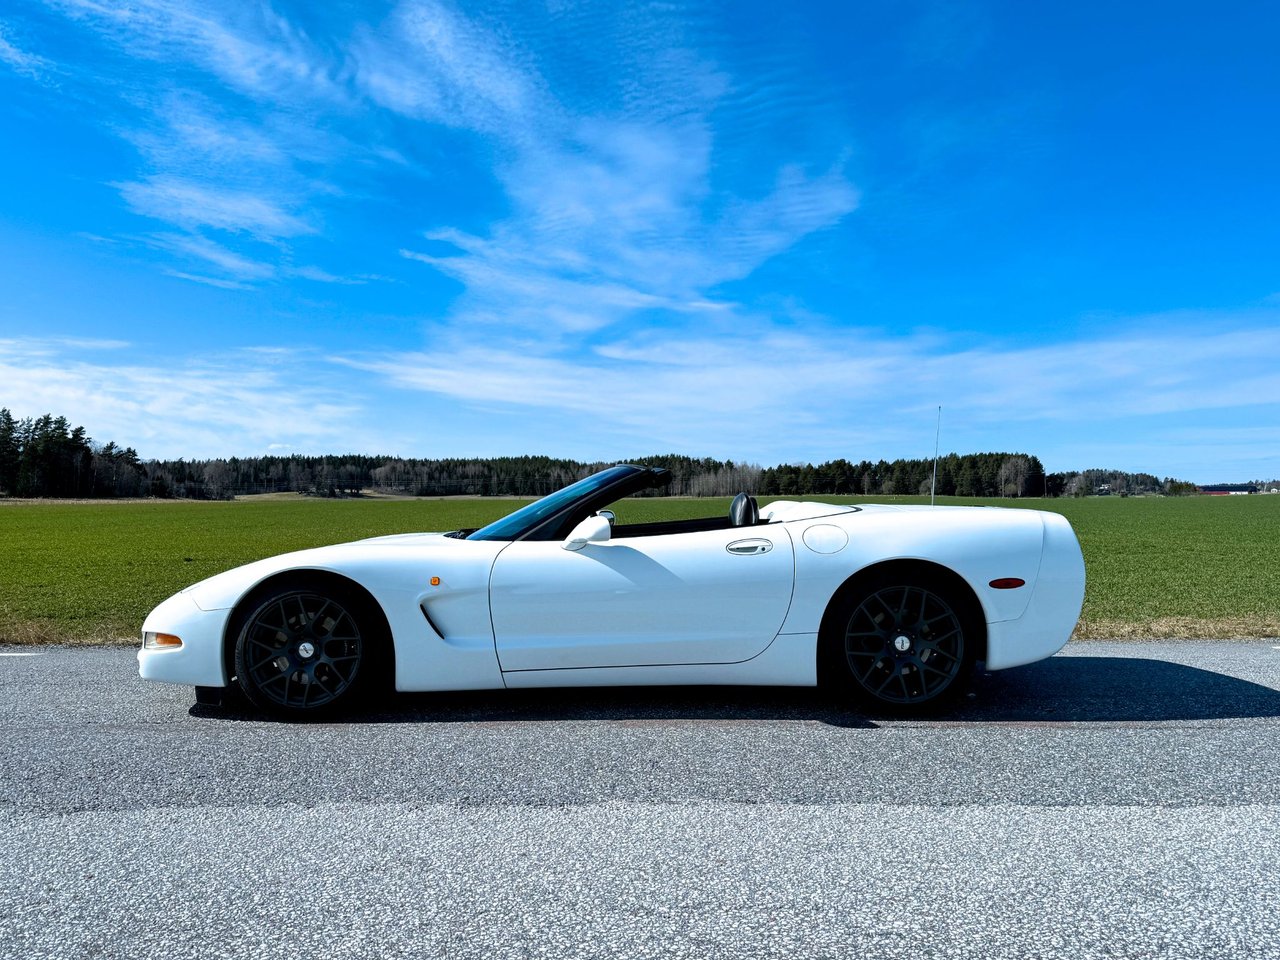
<svg viewBox="0 0 1280 960">
<path fill-rule="evenodd" d="M 946 703 L 977 662 L 1051 657 L 1084 598 L 1056 513 L 739 494 L 730 516 L 618 524 L 669 481 L 620 465 L 480 530 L 288 553 L 156 607 L 140 673 L 325 716 L 378 689 L 831 684 L 863 708 Z"/>
</svg>

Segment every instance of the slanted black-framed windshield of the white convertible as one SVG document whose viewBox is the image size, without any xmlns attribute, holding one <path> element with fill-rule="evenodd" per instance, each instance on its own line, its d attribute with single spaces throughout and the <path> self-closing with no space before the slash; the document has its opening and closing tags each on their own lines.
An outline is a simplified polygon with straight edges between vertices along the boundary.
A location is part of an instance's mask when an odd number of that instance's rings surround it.
<svg viewBox="0 0 1280 960">
<path fill-rule="evenodd" d="M 664 486 L 660 468 L 618 463 L 521 507 L 466 536 L 467 540 L 558 540 L 596 509 L 632 493 Z"/>
</svg>

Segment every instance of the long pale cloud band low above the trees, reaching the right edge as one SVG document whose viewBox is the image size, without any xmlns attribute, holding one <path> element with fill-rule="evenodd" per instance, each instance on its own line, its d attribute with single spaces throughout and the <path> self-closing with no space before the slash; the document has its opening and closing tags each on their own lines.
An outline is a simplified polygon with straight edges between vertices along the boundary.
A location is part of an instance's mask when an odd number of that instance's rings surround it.
<svg viewBox="0 0 1280 960">
<path fill-rule="evenodd" d="M 595 443 L 623 451 L 916 456 L 902 451 L 904 436 L 932 422 L 945 403 L 948 434 L 970 444 L 964 449 L 1042 453 L 1076 442 L 1083 449 L 1103 426 L 1135 424 L 1144 440 L 1158 436 L 1165 452 L 1143 463 L 1135 444 L 1110 462 L 1158 470 L 1207 443 L 1179 436 L 1180 417 L 1229 421 L 1231 411 L 1280 408 L 1280 333 L 1180 330 L 1021 348 L 765 325 L 737 338 L 650 333 L 577 353 L 549 352 L 540 339 L 489 347 L 477 338 L 431 352 L 335 360 L 402 389 L 503 416 L 584 424 Z M 591 424 L 603 426 L 593 434 Z M 1267 435 L 1280 443 L 1280 426 Z M 1088 465 L 1056 468 L 1071 466 Z"/>
</svg>

